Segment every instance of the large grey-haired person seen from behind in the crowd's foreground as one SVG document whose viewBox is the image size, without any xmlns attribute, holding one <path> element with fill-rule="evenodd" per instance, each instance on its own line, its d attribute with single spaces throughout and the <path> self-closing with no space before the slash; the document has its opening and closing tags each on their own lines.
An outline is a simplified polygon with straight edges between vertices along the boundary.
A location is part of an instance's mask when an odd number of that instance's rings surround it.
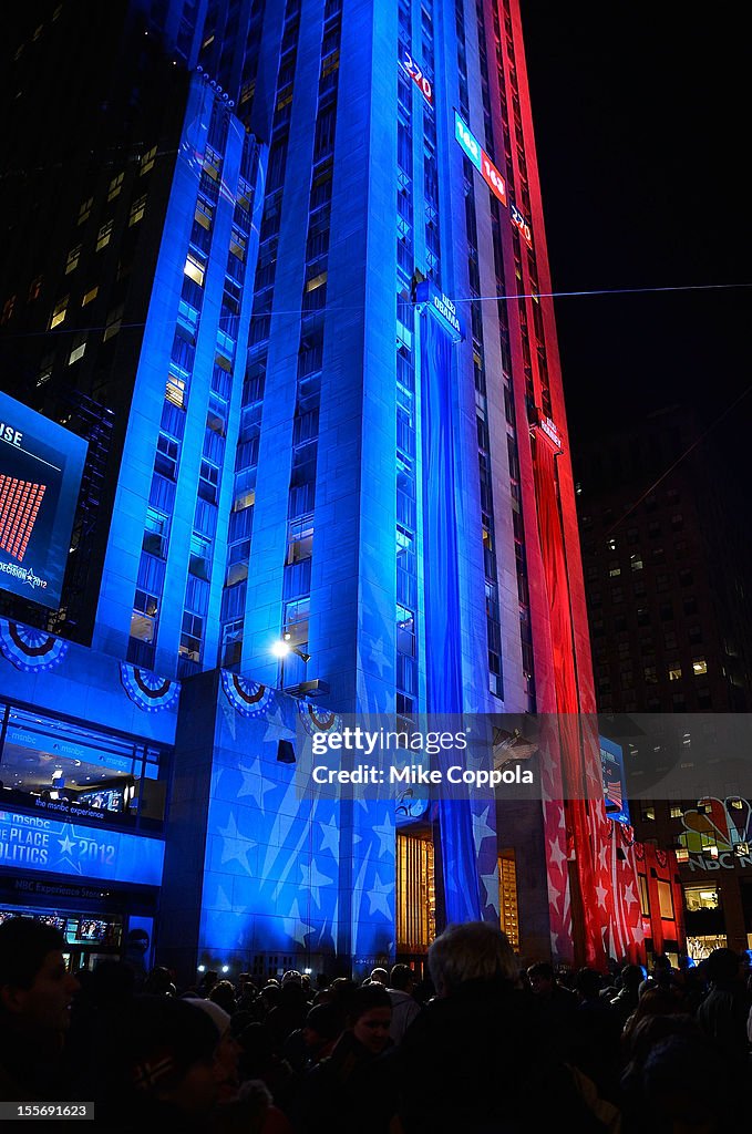
<svg viewBox="0 0 752 1134">
<path fill-rule="evenodd" d="M 394 1052 L 406 1134 L 578 1134 L 606 1125 L 550 1043 L 539 1002 L 518 987 L 509 941 L 488 922 L 449 925 L 428 955 L 437 996 Z"/>
</svg>

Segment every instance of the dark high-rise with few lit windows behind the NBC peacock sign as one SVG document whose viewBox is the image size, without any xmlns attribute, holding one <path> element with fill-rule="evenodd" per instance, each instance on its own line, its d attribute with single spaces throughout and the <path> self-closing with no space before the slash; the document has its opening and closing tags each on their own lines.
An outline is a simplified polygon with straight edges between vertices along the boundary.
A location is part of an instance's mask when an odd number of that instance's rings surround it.
<svg viewBox="0 0 752 1134">
<path fill-rule="evenodd" d="M 575 469 L 598 709 L 616 733 L 637 722 L 632 818 L 639 838 L 677 850 L 696 958 L 752 945 L 744 718 L 732 736 L 719 716 L 752 705 L 749 501 L 709 424 L 666 407 L 584 441 Z"/>
</svg>

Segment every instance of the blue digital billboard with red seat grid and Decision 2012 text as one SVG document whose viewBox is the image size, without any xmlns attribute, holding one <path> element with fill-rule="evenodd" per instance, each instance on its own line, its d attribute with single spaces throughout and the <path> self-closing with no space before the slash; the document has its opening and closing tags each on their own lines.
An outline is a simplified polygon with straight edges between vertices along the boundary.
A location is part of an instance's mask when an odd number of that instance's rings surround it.
<svg viewBox="0 0 752 1134">
<path fill-rule="evenodd" d="M 0 392 L 0 589 L 59 606 L 87 448 Z"/>
</svg>

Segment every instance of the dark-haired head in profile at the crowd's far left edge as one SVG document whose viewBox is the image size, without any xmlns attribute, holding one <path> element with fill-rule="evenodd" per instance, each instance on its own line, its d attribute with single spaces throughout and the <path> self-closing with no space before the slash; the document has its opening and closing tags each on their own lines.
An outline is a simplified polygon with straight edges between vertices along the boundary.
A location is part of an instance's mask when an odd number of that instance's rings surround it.
<svg viewBox="0 0 752 1134">
<path fill-rule="evenodd" d="M 79 984 L 66 968 L 64 947 L 57 929 L 31 917 L 0 925 L 0 1026 L 40 1038 L 69 1027 Z"/>
</svg>

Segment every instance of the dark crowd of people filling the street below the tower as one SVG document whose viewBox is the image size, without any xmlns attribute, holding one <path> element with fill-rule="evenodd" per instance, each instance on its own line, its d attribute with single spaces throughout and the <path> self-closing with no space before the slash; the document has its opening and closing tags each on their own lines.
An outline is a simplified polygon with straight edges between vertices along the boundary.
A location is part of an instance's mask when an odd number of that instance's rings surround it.
<svg viewBox="0 0 752 1134">
<path fill-rule="evenodd" d="M 86 1101 L 130 1134 L 713 1134 L 746 1128 L 746 953 L 557 972 L 450 925 L 364 981 L 297 971 L 176 985 L 67 971 L 57 930 L 0 925 L 0 1100 Z M 57 1127 L 59 1128 L 59 1127 Z"/>
</svg>

